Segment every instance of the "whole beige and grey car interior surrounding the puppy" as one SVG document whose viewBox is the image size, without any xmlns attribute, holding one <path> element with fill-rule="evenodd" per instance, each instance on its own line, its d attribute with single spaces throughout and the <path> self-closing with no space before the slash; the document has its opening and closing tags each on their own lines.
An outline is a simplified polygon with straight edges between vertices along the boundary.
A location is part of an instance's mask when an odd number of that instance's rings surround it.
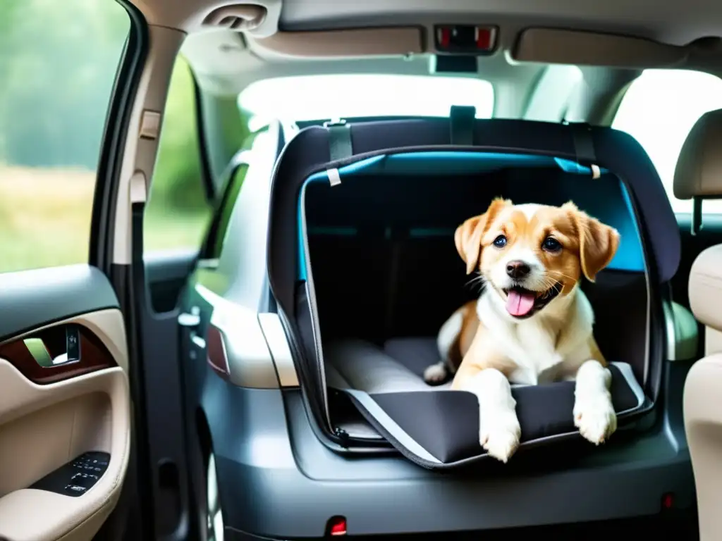
<svg viewBox="0 0 722 541">
<path fill-rule="evenodd" d="M 88 261 L 0 273 L 0 539 L 722 537 L 722 6 L 118 4 Z M 209 219 L 154 250 L 179 61 Z M 622 234 L 583 284 L 604 445 L 520 386 L 497 464 L 424 382 L 500 195 Z"/>
</svg>

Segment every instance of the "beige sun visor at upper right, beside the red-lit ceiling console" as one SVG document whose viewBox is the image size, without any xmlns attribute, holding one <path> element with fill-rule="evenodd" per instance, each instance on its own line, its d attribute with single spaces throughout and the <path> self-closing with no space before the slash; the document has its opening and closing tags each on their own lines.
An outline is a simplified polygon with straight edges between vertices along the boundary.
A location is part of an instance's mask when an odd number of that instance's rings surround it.
<svg viewBox="0 0 722 541">
<path fill-rule="evenodd" d="M 511 51 L 519 62 L 625 69 L 676 66 L 684 63 L 687 54 L 687 48 L 644 38 L 554 28 L 523 30 Z"/>
</svg>

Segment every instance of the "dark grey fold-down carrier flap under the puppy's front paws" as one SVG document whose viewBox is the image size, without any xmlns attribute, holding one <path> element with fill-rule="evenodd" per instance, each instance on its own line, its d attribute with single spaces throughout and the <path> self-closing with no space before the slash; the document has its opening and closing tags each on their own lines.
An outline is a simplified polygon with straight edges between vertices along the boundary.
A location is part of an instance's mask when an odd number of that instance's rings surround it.
<svg viewBox="0 0 722 541">
<path fill-rule="evenodd" d="M 612 372 L 612 403 L 617 413 L 640 407 L 617 366 Z M 522 444 L 574 432 L 574 383 L 515 387 Z M 370 395 L 386 414 L 430 454 L 448 464 L 485 454 L 479 445 L 479 405 L 470 392 L 417 391 Z M 612 436 L 613 437 L 613 436 Z"/>
</svg>

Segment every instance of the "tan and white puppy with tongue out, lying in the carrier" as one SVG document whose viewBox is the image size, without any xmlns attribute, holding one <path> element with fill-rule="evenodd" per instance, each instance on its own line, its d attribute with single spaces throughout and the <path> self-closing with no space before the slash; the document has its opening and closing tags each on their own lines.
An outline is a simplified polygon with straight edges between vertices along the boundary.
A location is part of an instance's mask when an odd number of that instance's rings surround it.
<svg viewBox="0 0 722 541">
<path fill-rule="evenodd" d="M 438 333 L 443 361 L 424 379 L 479 399 L 479 443 L 507 462 L 521 428 L 510 384 L 575 381 L 575 426 L 593 444 L 617 429 L 612 374 L 592 334 L 593 309 L 579 288 L 614 258 L 619 232 L 574 203 L 515 205 L 496 198 L 454 234 L 466 273 L 479 272 L 481 296 Z"/>
</svg>

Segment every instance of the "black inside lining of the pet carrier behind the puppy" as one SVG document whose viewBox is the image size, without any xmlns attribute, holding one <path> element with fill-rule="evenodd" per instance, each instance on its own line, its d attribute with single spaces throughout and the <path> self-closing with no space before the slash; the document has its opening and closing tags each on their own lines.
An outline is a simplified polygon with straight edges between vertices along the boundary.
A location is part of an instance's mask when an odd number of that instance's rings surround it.
<svg viewBox="0 0 722 541">
<path fill-rule="evenodd" d="M 552 205 L 572 199 L 580 208 L 599 210 L 593 215 L 616 226 L 625 236 L 623 242 L 638 242 L 613 177 L 591 180 L 556 169 L 511 168 L 449 177 L 360 175 L 338 188 L 312 183 L 305 195 L 307 263 L 313 270 L 323 341 L 360 338 L 380 345 L 396 337 L 435 336 L 454 310 L 479 296 L 481 283 L 472 281 L 476 275 L 466 275 L 453 231 L 484 211 L 495 195 L 515 203 Z M 352 228 L 356 234 L 329 233 L 334 228 Z M 435 233 L 411 234 L 429 229 Z M 648 309 L 644 273 L 606 269 L 596 283 L 583 281 L 582 288 L 595 310 L 594 330 L 602 352 L 630 364 L 643 382 Z"/>
</svg>

